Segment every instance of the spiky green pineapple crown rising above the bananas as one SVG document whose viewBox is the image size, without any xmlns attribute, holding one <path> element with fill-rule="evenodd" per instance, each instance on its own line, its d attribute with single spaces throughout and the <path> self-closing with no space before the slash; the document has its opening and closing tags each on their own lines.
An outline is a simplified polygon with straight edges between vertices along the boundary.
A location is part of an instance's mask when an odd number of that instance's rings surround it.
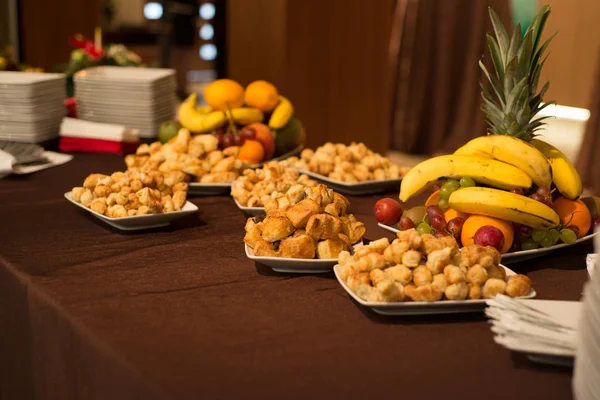
<svg viewBox="0 0 600 400">
<path fill-rule="evenodd" d="M 550 101 L 542 104 L 549 82 L 537 92 L 540 72 L 547 58 L 544 51 L 554 37 L 552 35 L 541 44 L 550 7 L 542 7 L 524 36 L 521 36 L 521 27 L 517 25 L 510 38 L 498 14 L 491 8 L 489 14 L 495 37 L 488 33 L 487 42 L 495 74 L 490 74 L 483 62 L 479 61 L 489 82 L 489 87 L 481 82 L 482 110 L 488 131 L 529 142 L 536 136 L 536 131 L 543 129 L 544 120 L 549 117 L 533 118 L 543 108 L 555 103 Z"/>
</svg>

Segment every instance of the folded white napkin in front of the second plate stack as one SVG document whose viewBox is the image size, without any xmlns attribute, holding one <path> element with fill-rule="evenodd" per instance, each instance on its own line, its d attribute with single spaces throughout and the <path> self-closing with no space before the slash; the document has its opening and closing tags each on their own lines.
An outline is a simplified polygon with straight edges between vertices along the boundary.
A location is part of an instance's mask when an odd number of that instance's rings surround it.
<svg viewBox="0 0 600 400">
<path fill-rule="evenodd" d="M 129 143 L 139 141 L 139 130 L 130 129 L 117 124 L 104 124 L 76 118 L 63 118 L 60 125 L 60 136 Z"/>
</svg>

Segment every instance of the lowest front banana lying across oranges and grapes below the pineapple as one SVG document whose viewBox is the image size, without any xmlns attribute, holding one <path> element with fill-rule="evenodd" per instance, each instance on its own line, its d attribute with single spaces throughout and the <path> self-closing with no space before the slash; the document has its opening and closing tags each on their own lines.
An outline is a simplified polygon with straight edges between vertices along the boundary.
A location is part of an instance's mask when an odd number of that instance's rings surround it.
<svg viewBox="0 0 600 400">
<path fill-rule="evenodd" d="M 558 214 L 547 205 L 504 190 L 461 188 L 450 195 L 448 204 L 456 211 L 500 218 L 535 229 L 554 228 L 560 224 Z"/>
</svg>

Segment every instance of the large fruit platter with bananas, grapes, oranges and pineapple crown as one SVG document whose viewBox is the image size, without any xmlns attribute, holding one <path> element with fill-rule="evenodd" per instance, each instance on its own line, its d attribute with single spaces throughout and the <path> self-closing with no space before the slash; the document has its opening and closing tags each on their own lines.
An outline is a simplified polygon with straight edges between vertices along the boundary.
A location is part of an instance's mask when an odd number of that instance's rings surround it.
<svg viewBox="0 0 600 400">
<path fill-rule="evenodd" d="M 537 116 L 549 83 L 538 81 L 552 38 L 541 41 L 550 10 L 544 7 L 524 36 L 509 36 L 493 10 L 488 36 L 494 70 L 480 62 L 482 110 L 488 135 L 453 154 L 413 167 L 400 185 L 403 204 L 431 191 L 424 205 L 403 209 L 394 199 L 375 205 L 380 226 L 453 236 L 461 246 L 491 246 L 506 263 L 547 254 L 590 239 L 599 222 L 600 198 L 581 197 L 577 170 L 557 148 L 539 137 Z M 537 117 L 536 117 L 537 116 Z"/>
</svg>

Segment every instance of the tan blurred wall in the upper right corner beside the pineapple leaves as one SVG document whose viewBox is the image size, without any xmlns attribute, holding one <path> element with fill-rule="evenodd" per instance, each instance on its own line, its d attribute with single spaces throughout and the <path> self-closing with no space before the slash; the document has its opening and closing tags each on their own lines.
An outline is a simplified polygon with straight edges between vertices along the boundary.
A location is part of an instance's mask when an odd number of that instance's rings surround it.
<svg viewBox="0 0 600 400">
<path fill-rule="evenodd" d="M 550 4 L 552 14 L 545 34 L 558 35 L 550 44 L 550 57 L 544 66 L 541 82 L 550 80 L 547 100 L 573 107 L 590 107 L 594 78 L 600 68 L 600 1 L 539 0 Z"/>
</svg>

